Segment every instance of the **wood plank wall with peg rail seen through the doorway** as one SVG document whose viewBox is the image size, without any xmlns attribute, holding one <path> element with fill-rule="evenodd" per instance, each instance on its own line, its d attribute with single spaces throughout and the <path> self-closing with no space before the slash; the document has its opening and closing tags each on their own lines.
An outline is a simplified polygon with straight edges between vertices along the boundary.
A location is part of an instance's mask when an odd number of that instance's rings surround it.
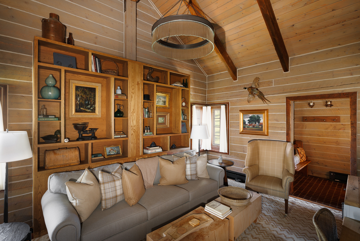
<svg viewBox="0 0 360 241">
<path fill-rule="evenodd" d="M 294 139 L 303 142 L 306 156 L 311 160 L 308 174 L 329 178 L 329 171 L 350 174 L 350 99 L 332 99 L 331 108 L 325 100 L 294 103 Z M 339 116 L 340 122 L 303 122 L 302 117 Z"/>
</svg>

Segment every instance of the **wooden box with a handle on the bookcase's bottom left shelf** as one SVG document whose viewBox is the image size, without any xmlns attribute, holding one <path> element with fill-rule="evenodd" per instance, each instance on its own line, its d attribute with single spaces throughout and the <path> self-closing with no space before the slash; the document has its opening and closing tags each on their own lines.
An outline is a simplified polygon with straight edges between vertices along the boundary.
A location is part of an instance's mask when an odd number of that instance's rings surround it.
<svg viewBox="0 0 360 241">
<path fill-rule="evenodd" d="M 78 165 L 80 164 L 80 150 L 78 147 L 45 150 L 44 159 L 45 169 Z"/>
</svg>

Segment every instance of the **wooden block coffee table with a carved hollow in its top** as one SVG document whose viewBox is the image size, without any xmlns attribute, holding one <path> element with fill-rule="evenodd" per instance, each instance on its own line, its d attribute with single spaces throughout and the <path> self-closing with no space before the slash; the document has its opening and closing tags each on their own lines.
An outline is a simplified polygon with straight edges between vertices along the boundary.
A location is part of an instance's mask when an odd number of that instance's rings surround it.
<svg viewBox="0 0 360 241">
<path fill-rule="evenodd" d="M 181 239 L 181 241 L 228 241 L 229 240 L 229 219 L 220 219 L 214 215 L 209 214 L 204 210 L 203 207 L 198 207 L 194 211 L 189 212 L 188 214 L 182 216 L 179 219 L 176 219 L 174 222 L 166 224 L 165 226 L 156 229 L 155 231 L 148 233 L 146 236 L 146 241 L 157 241 L 163 238 L 163 232 L 165 232 L 171 225 L 179 222 L 181 219 L 189 216 L 190 214 L 199 214 L 204 213 L 210 216 L 214 222 L 209 226 L 200 229 L 197 232 L 190 233 L 188 236 Z M 170 238 L 164 238 L 161 241 L 170 241 Z"/>
</svg>

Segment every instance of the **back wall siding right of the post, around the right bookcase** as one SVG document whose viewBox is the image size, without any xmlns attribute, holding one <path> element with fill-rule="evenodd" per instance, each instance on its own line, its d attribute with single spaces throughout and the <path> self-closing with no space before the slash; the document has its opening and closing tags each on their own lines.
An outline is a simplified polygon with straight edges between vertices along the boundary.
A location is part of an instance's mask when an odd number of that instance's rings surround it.
<svg viewBox="0 0 360 241">
<path fill-rule="evenodd" d="M 161 17 L 150 0 L 141 0 L 136 9 L 136 60 L 151 65 L 173 69 L 191 76 L 190 101 L 206 103 L 206 75 L 194 60 L 171 60 L 151 49 L 151 27 Z M 176 38 L 169 38 L 180 43 Z"/>
</svg>

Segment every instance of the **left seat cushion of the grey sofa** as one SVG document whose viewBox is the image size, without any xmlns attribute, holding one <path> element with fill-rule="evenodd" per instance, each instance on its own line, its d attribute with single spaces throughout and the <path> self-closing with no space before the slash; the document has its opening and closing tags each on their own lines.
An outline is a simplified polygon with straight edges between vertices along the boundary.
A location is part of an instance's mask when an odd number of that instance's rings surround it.
<svg viewBox="0 0 360 241">
<path fill-rule="evenodd" d="M 148 219 L 147 210 L 136 203 L 131 207 L 122 200 L 101 211 L 101 205 L 81 225 L 81 241 L 103 240 Z"/>
</svg>

